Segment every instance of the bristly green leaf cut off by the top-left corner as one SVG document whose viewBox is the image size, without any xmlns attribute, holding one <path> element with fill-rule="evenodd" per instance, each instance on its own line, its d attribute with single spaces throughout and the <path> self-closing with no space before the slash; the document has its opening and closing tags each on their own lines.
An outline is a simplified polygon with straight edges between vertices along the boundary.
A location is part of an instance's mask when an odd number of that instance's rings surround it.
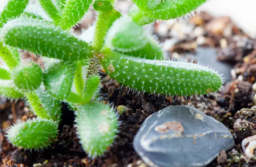
<svg viewBox="0 0 256 167">
<path fill-rule="evenodd" d="M 26 9 L 28 3 L 29 0 L 9 0 L 3 12 L 0 13 L 0 28 L 3 27 L 3 24 L 7 23 L 8 20 L 19 17 Z"/>
</svg>

